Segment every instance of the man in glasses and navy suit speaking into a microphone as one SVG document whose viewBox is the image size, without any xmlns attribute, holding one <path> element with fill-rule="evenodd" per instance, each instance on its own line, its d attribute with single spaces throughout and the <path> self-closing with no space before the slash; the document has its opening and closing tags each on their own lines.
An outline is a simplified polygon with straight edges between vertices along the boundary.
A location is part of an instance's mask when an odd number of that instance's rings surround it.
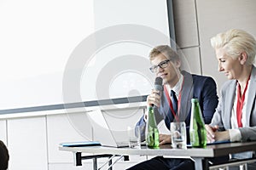
<svg viewBox="0 0 256 170">
<path fill-rule="evenodd" d="M 166 127 L 170 129 L 170 123 L 175 122 L 178 117 L 180 122 L 187 126 L 187 139 L 189 143 L 189 122 L 191 99 L 199 100 L 202 116 L 206 124 L 212 120 L 215 108 L 218 105 L 216 83 L 212 77 L 191 75 L 187 71 L 180 71 L 181 60 L 178 54 L 167 45 L 160 45 L 153 48 L 149 54 L 152 64 L 150 71 L 155 77 L 162 77 L 164 91 L 152 90 L 148 95 L 147 105 L 157 106 L 154 111 L 156 122 L 165 120 Z M 176 102 L 173 102 L 176 101 Z M 137 122 L 137 126 L 145 129 L 148 112 Z M 144 130 L 143 130 L 144 131 Z M 142 133 L 145 138 L 145 133 Z M 171 136 L 160 134 L 160 144 L 171 143 Z M 143 161 L 131 169 L 194 169 L 194 163 L 190 159 L 172 159 L 156 156 L 151 160 Z"/>
</svg>

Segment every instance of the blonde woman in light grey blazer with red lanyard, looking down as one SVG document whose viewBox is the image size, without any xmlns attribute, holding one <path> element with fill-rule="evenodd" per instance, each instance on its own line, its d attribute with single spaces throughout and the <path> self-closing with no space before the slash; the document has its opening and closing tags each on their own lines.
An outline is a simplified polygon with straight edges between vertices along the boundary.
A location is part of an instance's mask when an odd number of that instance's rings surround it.
<svg viewBox="0 0 256 170">
<path fill-rule="evenodd" d="M 218 71 L 229 81 L 221 89 L 211 124 L 206 125 L 207 140 L 256 140 L 256 41 L 246 31 L 232 29 L 212 37 L 211 43 Z M 246 152 L 236 154 L 235 158 L 251 156 L 252 152 Z"/>
</svg>

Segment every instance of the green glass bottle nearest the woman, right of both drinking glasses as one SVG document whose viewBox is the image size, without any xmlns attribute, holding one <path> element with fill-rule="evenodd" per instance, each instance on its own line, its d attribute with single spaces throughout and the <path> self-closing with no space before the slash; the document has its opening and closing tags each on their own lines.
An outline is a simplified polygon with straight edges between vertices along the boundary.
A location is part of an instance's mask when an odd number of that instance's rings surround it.
<svg viewBox="0 0 256 170">
<path fill-rule="evenodd" d="M 195 148 L 204 148 L 207 145 L 207 130 L 201 115 L 198 99 L 191 99 L 191 117 L 189 127 L 190 144 Z"/>
</svg>

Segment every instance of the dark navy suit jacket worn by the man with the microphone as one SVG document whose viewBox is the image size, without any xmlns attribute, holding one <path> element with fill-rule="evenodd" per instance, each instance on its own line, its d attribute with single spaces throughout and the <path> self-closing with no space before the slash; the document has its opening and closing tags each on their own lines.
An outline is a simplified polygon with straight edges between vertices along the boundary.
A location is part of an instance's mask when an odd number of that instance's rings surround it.
<svg viewBox="0 0 256 170">
<path fill-rule="evenodd" d="M 186 71 L 182 71 L 184 82 L 181 92 L 181 108 L 179 113 L 179 121 L 185 122 L 187 126 L 187 140 L 189 143 L 189 124 L 190 124 L 190 111 L 191 99 L 197 98 L 201 106 L 202 116 L 206 124 L 212 120 L 215 108 L 218 105 L 218 96 L 216 91 L 216 83 L 212 77 L 203 77 L 198 75 L 191 75 Z M 166 99 L 166 94 L 162 93 L 160 108 L 154 110 L 156 122 L 165 120 L 166 127 L 170 129 L 170 123 L 174 122 L 170 106 Z M 137 126 L 143 129 L 142 139 L 145 139 L 146 122 L 143 117 L 137 122 Z"/>
</svg>

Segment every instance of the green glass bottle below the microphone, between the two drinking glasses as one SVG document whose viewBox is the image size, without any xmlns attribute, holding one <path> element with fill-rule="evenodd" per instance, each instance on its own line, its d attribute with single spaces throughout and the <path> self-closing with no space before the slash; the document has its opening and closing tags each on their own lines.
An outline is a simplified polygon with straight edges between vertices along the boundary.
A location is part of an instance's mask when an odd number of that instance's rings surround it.
<svg viewBox="0 0 256 170">
<path fill-rule="evenodd" d="M 155 122 L 154 108 L 152 106 L 148 108 L 146 143 L 148 148 L 159 148 L 159 131 Z"/>
</svg>

